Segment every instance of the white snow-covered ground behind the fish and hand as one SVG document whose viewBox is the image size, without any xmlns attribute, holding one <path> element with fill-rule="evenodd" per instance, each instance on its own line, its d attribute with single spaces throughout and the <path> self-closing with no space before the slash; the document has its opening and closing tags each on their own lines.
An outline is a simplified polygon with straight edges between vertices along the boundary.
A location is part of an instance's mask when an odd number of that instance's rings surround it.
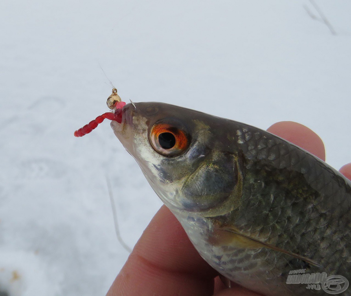
<svg viewBox="0 0 351 296">
<path fill-rule="evenodd" d="M 351 2 L 10 1 L 0 4 L 0 292 L 105 295 L 161 205 L 104 122 L 111 93 L 262 129 L 302 123 L 351 161 Z M 108 121 L 108 120 L 106 120 Z M 137 284 L 137 283 L 136 283 Z"/>
</svg>

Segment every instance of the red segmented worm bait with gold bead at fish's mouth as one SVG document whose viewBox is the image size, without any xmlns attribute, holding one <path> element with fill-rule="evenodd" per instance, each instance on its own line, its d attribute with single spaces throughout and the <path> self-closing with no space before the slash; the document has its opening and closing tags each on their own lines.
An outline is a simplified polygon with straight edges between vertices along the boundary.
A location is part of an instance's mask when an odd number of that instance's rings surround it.
<svg viewBox="0 0 351 296">
<path fill-rule="evenodd" d="M 117 94 L 117 89 L 113 88 L 112 94 L 107 99 L 107 106 L 112 110 L 112 112 L 106 112 L 101 114 L 90 123 L 81 127 L 79 130 L 74 132 L 75 137 L 82 137 L 85 134 L 90 133 L 92 130 L 96 129 L 99 123 L 102 123 L 104 119 L 115 120 L 118 123 L 122 122 L 122 108 L 126 103 L 121 101 L 121 98 Z"/>
</svg>

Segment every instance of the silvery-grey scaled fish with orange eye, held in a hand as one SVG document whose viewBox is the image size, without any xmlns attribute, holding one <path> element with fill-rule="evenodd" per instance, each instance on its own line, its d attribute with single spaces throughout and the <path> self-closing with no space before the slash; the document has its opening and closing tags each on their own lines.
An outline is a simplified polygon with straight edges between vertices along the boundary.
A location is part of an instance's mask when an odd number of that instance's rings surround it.
<svg viewBox="0 0 351 296">
<path fill-rule="evenodd" d="M 351 281 L 351 182 L 319 158 L 256 127 L 164 103 L 127 104 L 111 126 L 223 276 L 270 296 L 325 295 L 287 284 L 293 270 Z M 179 142 L 171 149 L 170 134 Z"/>
</svg>

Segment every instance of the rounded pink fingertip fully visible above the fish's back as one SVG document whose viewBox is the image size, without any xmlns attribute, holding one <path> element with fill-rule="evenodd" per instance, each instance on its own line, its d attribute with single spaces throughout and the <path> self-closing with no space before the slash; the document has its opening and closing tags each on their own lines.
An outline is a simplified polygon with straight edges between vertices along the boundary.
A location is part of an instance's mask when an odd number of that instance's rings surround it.
<svg viewBox="0 0 351 296">
<path fill-rule="evenodd" d="M 323 141 L 308 127 L 293 121 L 280 121 L 270 126 L 267 131 L 288 140 L 325 161 Z"/>
</svg>

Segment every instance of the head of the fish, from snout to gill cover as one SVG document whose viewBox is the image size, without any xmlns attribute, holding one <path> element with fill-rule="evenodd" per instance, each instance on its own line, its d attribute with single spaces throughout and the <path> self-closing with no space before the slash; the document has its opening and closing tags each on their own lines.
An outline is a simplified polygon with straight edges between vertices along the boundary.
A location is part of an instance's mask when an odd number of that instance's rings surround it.
<svg viewBox="0 0 351 296">
<path fill-rule="evenodd" d="M 185 215 L 214 216 L 237 205 L 225 201 L 233 199 L 238 181 L 235 156 L 224 152 L 225 140 L 218 141 L 218 130 L 225 127 L 214 126 L 215 118 L 165 103 L 142 102 L 127 104 L 121 123 L 112 121 L 111 126 L 168 208 Z"/>
</svg>

